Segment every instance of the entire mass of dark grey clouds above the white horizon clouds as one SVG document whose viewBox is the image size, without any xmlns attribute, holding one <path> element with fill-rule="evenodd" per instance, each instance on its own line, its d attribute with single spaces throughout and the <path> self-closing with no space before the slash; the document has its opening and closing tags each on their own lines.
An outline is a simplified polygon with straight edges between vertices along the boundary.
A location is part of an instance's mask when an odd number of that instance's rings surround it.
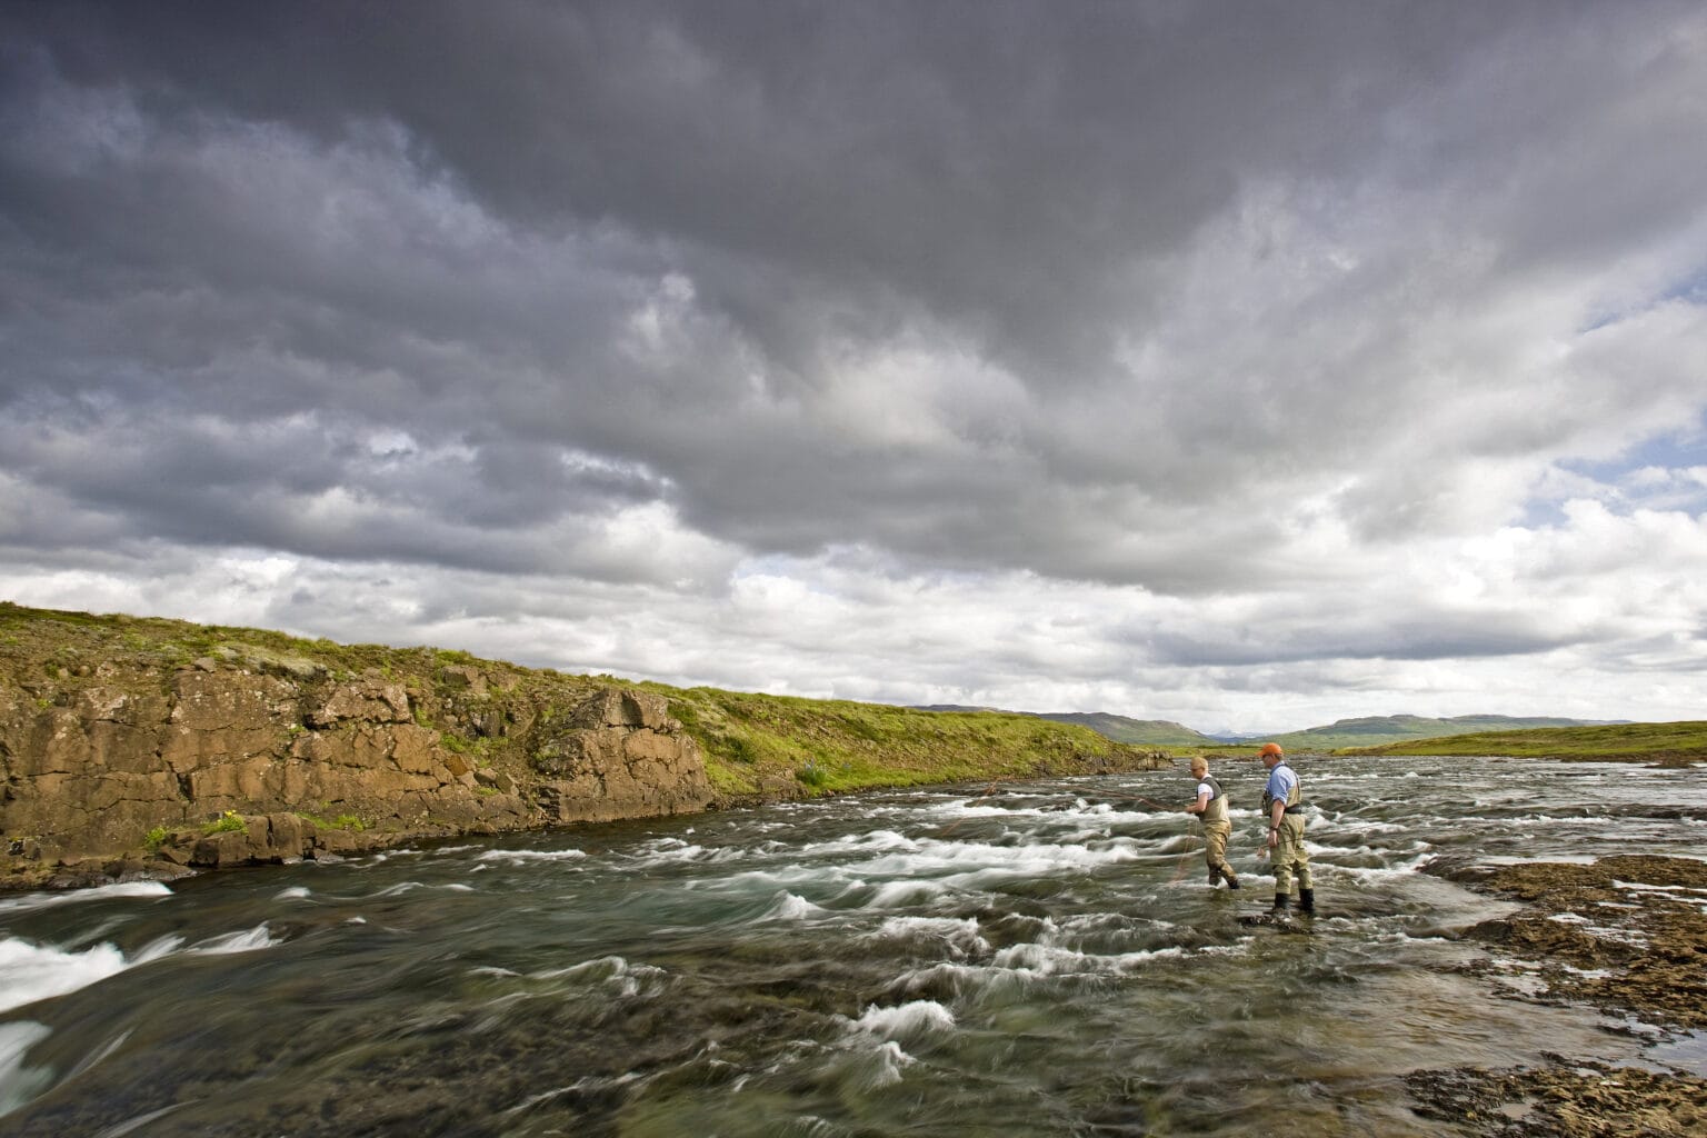
<svg viewBox="0 0 1707 1138">
<path fill-rule="evenodd" d="M 1499 524 L 1499 459 L 1700 404 L 1547 374 L 1577 300 L 1507 316 L 1620 256 L 1606 304 L 1676 283 L 1692 14 L 9 5 L 0 469 L 65 519 L 12 539 L 671 578 L 705 549 L 558 553 L 657 503 L 1214 594 L 1335 525 Z"/>
</svg>

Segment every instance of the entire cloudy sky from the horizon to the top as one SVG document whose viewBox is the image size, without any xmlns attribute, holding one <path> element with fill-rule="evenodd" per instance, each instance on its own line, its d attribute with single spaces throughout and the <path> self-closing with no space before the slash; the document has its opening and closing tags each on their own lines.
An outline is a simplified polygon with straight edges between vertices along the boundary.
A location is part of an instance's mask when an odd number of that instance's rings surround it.
<svg viewBox="0 0 1707 1138">
<path fill-rule="evenodd" d="M 1707 715 L 1707 7 L 0 3 L 0 597 Z"/>
</svg>

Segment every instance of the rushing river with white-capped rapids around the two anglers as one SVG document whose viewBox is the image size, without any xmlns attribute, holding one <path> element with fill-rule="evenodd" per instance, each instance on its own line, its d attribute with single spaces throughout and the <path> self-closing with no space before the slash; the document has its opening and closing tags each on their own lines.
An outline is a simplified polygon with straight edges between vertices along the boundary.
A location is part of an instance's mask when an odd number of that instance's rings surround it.
<svg viewBox="0 0 1707 1138">
<path fill-rule="evenodd" d="M 1403 1075 L 1644 1063 L 1459 940 L 1430 860 L 1698 856 L 1707 778 L 1296 764 L 1320 913 L 1272 882 L 1263 769 L 869 793 L 0 897 L 0 1135 L 1448 1135 Z M 1702 1071 L 1702 1056 L 1687 1063 Z"/>
</svg>

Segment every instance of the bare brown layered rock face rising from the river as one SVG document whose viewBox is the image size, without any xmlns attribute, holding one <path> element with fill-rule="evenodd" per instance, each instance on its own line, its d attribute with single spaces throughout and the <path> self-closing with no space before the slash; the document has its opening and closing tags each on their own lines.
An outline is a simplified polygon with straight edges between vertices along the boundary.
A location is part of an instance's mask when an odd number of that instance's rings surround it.
<svg viewBox="0 0 1707 1138">
<path fill-rule="evenodd" d="M 505 693 L 473 667 L 411 686 L 220 660 L 0 686 L 0 884 L 143 851 L 280 862 L 712 798 L 696 744 L 657 696 L 601 689 L 558 711 L 495 700 Z"/>
</svg>

